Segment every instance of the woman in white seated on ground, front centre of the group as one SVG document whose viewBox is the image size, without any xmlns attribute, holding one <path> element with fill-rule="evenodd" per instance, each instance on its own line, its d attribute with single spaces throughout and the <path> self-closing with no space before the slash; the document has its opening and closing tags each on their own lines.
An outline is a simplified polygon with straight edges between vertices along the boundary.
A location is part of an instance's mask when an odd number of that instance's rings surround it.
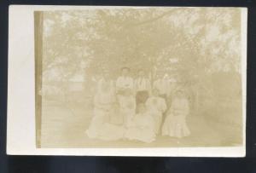
<svg viewBox="0 0 256 173">
<path fill-rule="evenodd" d="M 148 143 L 155 140 L 154 118 L 147 112 L 144 104 L 138 105 L 138 113 L 127 128 L 125 138 Z"/>
</svg>

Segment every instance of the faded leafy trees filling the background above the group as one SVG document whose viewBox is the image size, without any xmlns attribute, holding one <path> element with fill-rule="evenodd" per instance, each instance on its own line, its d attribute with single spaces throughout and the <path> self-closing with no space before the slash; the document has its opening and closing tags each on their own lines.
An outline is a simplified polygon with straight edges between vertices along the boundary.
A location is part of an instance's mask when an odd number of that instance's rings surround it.
<svg viewBox="0 0 256 173">
<path fill-rule="evenodd" d="M 198 102 L 200 94 L 216 94 L 212 78 L 219 72 L 240 73 L 240 32 L 238 9 L 44 12 L 44 78 L 68 81 L 83 73 L 90 85 L 103 72 L 116 78 L 122 66 L 134 76 L 143 68 L 152 79 L 177 78 Z"/>
</svg>

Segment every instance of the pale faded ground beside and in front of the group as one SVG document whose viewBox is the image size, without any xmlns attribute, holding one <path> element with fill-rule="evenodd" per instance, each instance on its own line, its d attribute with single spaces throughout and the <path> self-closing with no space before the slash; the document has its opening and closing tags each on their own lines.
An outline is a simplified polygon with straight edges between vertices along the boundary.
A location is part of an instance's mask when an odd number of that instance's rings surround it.
<svg viewBox="0 0 256 173">
<path fill-rule="evenodd" d="M 188 125 L 191 135 L 177 140 L 157 136 L 151 143 L 141 141 L 92 140 L 84 133 L 92 118 L 92 107 L 58 105 L 45 102 L 42 107 L 42 147 L 218 147 L 237 146 L 241 139 L 234 136 L 237 128 L 207 119 L 206 115 L 191 115 Z M 228 139 L 228 140 L 227 140 Z"/>
</svg>

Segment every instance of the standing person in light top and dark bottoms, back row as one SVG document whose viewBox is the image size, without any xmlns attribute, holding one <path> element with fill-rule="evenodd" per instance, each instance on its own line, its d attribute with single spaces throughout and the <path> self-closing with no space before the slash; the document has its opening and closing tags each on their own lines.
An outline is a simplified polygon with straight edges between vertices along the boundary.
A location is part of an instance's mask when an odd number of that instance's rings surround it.
<svg viewBox="0 0 256 173">
<path fill-rule="evenodd" d="M 150 91 L 150 82 L 143 70 L 138 72 L 138 78 L 135 80 L 135 90 L 136 90 L 136 104 L 143 103 L 148 100 Z"/>
</svg>

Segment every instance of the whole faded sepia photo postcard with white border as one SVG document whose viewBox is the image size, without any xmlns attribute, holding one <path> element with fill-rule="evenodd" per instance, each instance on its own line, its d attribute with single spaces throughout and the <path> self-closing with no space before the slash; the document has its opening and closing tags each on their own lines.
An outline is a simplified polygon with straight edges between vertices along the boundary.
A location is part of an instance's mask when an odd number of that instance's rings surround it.
<svg viewBox="0 0 256 173">
<path fill-rule="evenodd" d="M 9 154 L 245 155 L 247 9 L 11 6 Z"/>
</svg>

